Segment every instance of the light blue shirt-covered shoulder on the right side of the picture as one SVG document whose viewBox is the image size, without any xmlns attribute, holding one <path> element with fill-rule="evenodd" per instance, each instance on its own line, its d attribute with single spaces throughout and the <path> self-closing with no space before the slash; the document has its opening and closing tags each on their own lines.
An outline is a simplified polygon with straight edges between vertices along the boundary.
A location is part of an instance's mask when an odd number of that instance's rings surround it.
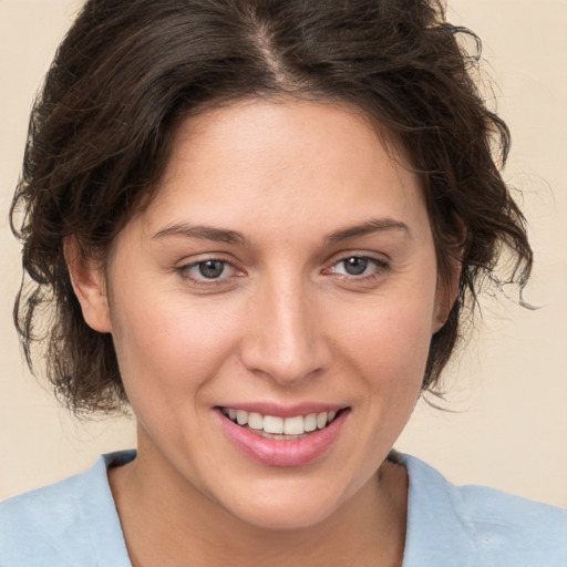
<svg viewBox="0 0 567 567">
<path fill-rule="evenodd" d="M 404 567 L 567 566 L 567 511 L 486 486 L 454 486 L 417 458 L 400 460 L 410 477 Z"/>
</svg>

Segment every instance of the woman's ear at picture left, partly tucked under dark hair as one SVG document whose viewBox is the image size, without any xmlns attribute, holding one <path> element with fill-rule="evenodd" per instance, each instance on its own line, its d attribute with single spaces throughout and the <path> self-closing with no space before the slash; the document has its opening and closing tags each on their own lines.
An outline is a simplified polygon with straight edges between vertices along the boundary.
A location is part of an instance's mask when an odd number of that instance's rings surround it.
<svg viewBox="0 0 567 567">
<path fill-rule="evenodd" d="M 86 324 L 99 332 L 111 332 L 109 298 L 101 266 L 85 258 L 74 236 L 64 239 L 63 255 Z"/>
</svg>

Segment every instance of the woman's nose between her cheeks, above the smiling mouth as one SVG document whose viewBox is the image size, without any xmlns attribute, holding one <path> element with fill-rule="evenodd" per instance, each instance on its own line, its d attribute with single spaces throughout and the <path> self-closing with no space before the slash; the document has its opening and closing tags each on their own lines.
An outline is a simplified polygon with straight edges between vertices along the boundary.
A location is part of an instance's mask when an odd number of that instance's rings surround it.
<svg viewBox="0 0 567 567">
<path fill-rule="evenodd" d="M 331 351 L 309 284 L 277 279 L 250 300 L 241 360 L 249 371 L 292 385 L 326 369 Z"/>
</svg>

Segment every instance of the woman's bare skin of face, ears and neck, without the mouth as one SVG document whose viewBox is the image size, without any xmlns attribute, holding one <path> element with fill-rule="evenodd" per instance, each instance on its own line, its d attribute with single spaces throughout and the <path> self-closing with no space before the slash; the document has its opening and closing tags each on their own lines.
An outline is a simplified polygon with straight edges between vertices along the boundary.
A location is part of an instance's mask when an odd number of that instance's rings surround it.
<svg viewBox="0 0 567 567">
<path fill-rule="evenodd" d="M 133 565 L 401 564 L 408 478 L 385 458 L 452 298 L 419 177 L 394 157 L 347 106 L 234 103 L 181 125 L 105 272 L 68 243 L 138 424 L 138 456 L 110 471 Z M 199 272 L 210 259 L 228 262 L 216 279 Z M 321 457 L 268 466 L 214 411 L 252 401 L 349 412 Z"/>
</svg>

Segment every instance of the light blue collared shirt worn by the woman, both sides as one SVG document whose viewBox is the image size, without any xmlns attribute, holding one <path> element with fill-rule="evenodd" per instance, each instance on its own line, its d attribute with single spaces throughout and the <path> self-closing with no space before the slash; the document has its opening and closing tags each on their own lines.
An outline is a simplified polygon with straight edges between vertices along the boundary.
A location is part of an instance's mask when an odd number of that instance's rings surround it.
<svg viewBox="0 0 567 567">
<path fill-rule="evenodd" d="M 131 567 L 106 468 L 0 504 L 0 567 Z M 567 567 L 567 511 L 484 486 L 454 486 L 396 455 L 410 477 L 403 567 Z"/>
</svg>

